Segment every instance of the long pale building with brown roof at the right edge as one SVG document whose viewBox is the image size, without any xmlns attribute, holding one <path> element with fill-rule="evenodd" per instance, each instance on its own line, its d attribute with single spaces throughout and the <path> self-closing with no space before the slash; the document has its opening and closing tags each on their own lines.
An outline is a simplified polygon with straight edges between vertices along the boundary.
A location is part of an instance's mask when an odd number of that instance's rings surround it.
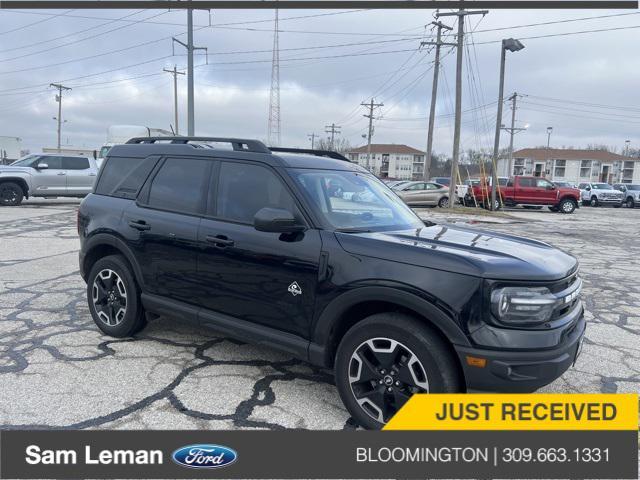
<svg viewBox="0 0 640 480">
<path fill-rule="evenodd" d="M 640 158 L 625 157 L 602 150 L 524 148 L 498 161 L 503 175 L 534 175 L 552 181 L 640 183 Z"/>
</svg>

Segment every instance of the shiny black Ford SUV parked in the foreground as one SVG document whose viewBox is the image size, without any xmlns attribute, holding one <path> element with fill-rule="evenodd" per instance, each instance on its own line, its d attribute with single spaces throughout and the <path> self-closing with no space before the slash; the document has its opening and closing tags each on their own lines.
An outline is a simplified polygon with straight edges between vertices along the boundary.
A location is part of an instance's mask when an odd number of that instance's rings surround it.
<svg viewBox="0 0 640 480">
<path fill-rule="evenodd" d="M 78 230 L 104 333 L 161 314 L 286 350 L 334 368 L 368 428 L 416 392 L 533 391 L 585 330 L 575 258 L 425 223 L 330 152 L 133 139 L 110 150 Z"/>
</svg>

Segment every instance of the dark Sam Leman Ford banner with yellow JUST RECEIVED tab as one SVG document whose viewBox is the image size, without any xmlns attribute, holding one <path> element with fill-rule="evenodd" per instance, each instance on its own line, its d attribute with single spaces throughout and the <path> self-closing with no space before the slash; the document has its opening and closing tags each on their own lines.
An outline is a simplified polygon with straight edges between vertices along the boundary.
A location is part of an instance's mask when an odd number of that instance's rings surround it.
<svg viewBox="0 0 640 480">
<path fill-rule="evenodd" d="M 635 394 L 406 407 L 379 432 L 1 431 L 0 478 L 638 478 Z"/>
</svg>

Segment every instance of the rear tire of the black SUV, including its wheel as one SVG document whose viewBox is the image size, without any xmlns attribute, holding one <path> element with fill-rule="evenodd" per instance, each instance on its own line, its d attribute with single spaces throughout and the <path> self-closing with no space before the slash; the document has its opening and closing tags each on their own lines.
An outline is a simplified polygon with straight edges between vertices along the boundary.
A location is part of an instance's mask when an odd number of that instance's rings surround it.
<svg viewBox="0 0 640 480">
<path fill-rule="evenodd" d="M 109 255 L 93 265 L 87 278 L 87 302 L 93 321 L 111 337 L 130 337 L 147 323 L 140 288 L 120 255 Z"/>
</svg>

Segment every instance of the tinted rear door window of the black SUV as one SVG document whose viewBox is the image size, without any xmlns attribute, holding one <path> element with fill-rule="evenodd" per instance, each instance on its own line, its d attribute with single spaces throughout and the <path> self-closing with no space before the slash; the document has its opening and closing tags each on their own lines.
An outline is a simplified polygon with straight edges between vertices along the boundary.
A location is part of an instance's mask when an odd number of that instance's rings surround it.
<svg viewBox="0 0 640 480">
<path fill-rule="evenodd" d="M 180 213 L 203 213 L 210 164 L 207 160 L 168 158 L 151 182 L 147 205 Z M 245 190 L 243 195 L 251 196 L 251 192 Z"/>
</svg>

